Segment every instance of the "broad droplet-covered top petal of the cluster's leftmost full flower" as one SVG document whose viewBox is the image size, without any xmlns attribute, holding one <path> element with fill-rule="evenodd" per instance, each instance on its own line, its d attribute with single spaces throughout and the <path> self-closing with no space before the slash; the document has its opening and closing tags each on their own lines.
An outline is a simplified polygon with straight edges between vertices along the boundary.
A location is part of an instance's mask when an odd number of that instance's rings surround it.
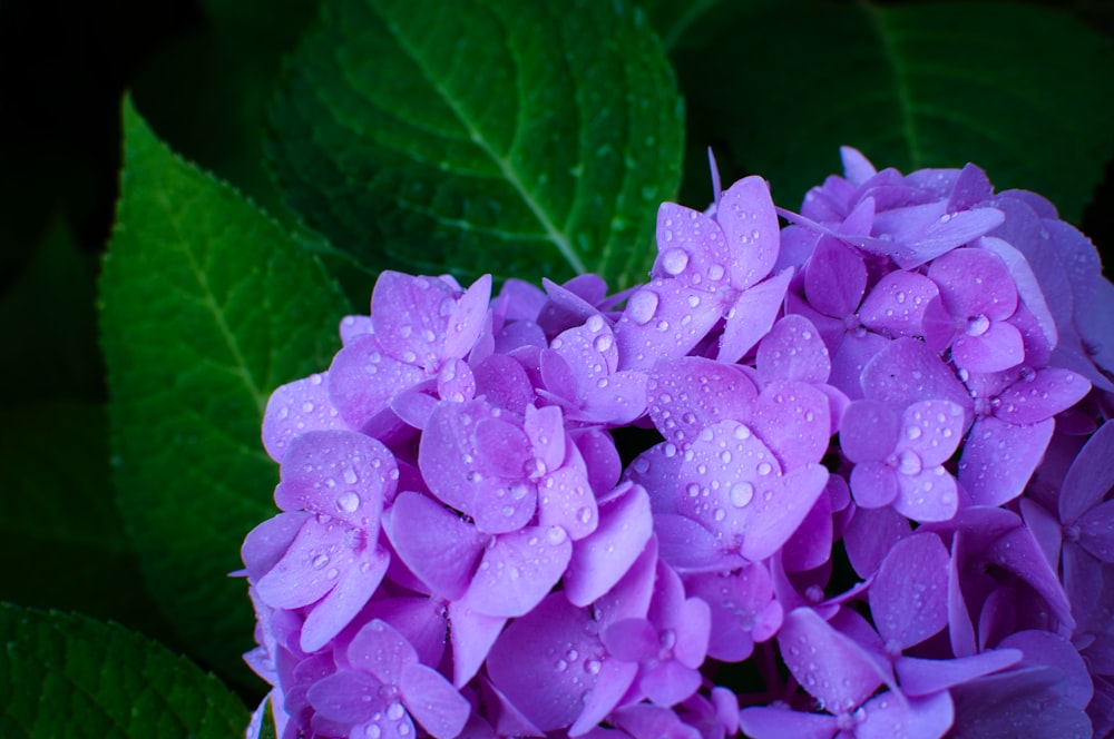
<svg viewBox="0 0 1114 739">
<path fill-rule="evenodd" d="M 283 460 L 278 508 L 335 516 L 374 536 L 399 476 L 382 443 L 352 431 L 314 431 L 295 439 Z"/>
</svg>

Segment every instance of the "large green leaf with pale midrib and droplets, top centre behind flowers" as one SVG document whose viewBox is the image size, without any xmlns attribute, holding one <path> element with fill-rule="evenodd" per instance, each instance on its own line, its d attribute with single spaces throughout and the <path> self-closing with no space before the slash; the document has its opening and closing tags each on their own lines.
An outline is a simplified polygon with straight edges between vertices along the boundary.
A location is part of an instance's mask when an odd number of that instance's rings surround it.
<svg viewBox="0 0 1114 739">
<path fill-rule="evenodd" d="M 292 58 L 270 149 L 290 204 L 377 268 L 645 277 L 682 106 L 614 2 L 335 0 Z"/>
</svg>

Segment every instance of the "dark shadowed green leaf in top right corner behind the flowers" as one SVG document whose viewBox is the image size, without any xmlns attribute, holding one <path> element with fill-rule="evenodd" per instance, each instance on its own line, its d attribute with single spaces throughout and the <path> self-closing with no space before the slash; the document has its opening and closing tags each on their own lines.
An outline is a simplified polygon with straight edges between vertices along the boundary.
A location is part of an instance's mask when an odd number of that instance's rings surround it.
<svg viewBox="0 0 1114 739">
<path fill-rule="evenodd" d="M 761 174 L 795 207 L 847 144 L 905 171 L 974 161 L 1077 220 L 1114 154 L 1114 43 L 1053 8 L 723 2 L 673 59 L 701 203 L 709 145 L 725 180 Z"/>
</svg>

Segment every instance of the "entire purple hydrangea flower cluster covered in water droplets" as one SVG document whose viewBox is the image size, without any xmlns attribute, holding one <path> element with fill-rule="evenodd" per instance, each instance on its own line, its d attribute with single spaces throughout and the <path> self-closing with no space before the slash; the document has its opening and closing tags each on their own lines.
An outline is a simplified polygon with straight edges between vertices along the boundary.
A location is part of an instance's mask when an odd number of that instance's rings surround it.
<svg viewBox="0 0 1114 739">
<path fill-rule="evenodd" d="M 281 736 L 1114 731 L 1114 286 L 1037 195 L 842 155 L 663 205 L 617 295 L 379 277 L 263 425 Z"/>
</svg>

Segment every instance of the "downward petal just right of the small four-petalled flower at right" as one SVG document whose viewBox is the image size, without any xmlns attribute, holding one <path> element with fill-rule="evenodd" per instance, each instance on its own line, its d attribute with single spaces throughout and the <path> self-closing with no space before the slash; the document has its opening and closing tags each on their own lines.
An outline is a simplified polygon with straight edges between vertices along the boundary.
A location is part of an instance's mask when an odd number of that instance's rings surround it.
<svg viewBox="0 0 1114 739">
<path fill-rule="evenodd" d="M 1055 422 L 1014 426 L 993 416 L 971 427 L 959 460 L 959 483 L 976 505 L 1001 505 L 1025 489 L 1044 456 Z"/>
</svg>

